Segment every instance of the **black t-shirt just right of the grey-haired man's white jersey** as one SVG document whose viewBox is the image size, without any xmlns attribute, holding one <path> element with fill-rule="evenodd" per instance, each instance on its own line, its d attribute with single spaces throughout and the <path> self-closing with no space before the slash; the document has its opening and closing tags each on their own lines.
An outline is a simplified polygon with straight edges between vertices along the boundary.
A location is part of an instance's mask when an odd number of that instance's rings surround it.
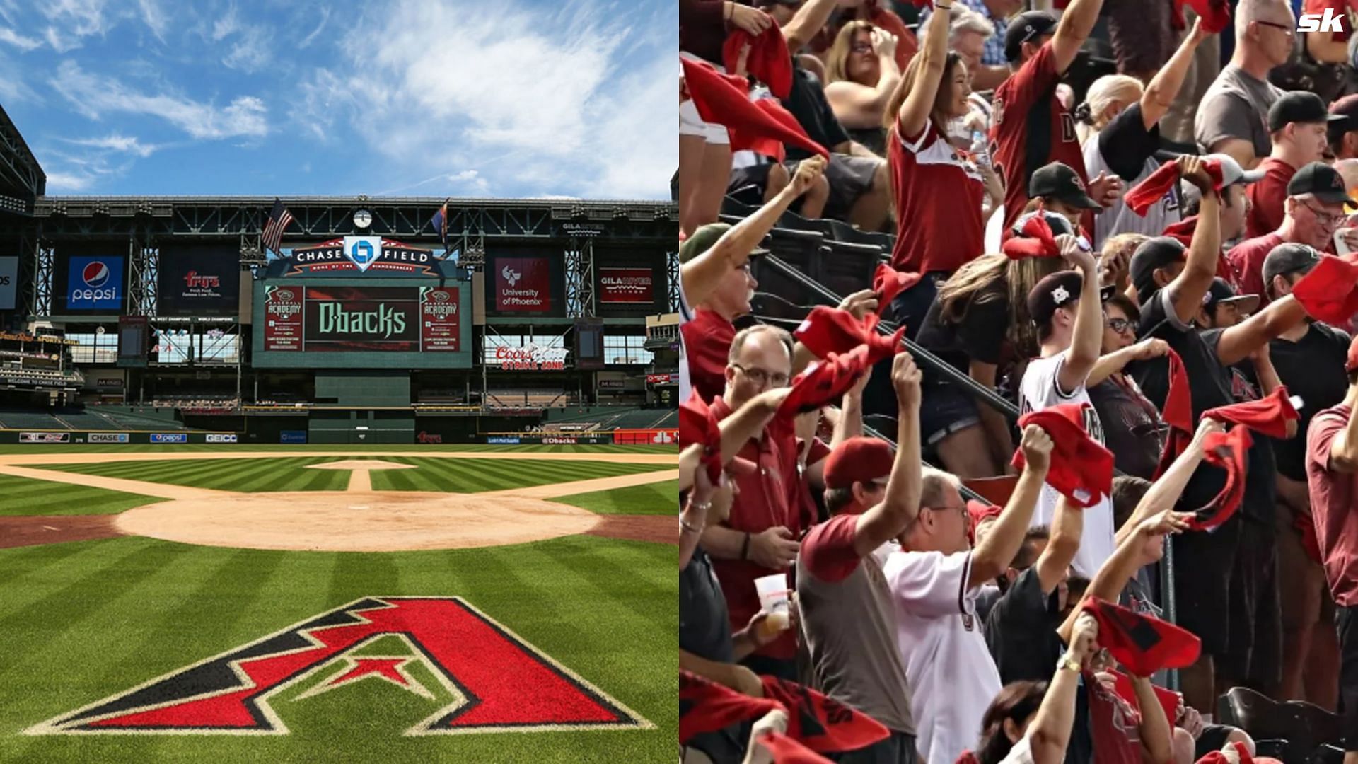
<svg viewBox="0 0 1358 764">
<path fill-rule="evenodd" d="M 1019 574 L 990 609 L 986 619 L 986 644 L 999 669 L 999 681 L 1043 681 L 1061 658 L 1062 643 L 1057 636 L 1061 613 L 1055 591 L 1044 594 L 1036 566 Z"/>
</svg>

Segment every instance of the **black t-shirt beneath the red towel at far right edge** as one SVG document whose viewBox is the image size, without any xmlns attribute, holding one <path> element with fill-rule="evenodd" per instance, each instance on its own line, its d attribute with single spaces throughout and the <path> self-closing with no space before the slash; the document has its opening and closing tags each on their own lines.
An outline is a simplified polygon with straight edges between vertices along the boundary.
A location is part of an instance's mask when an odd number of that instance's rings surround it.
<svg viewBox="0 0 1358 764">
<path fill-rule="evenodd" d="M 1310 419 L 1329 406 L 1339 405 L 1348 392 L 1348 374 L 1344 360 L 1348 358 L 1348 334 L 1315 322 L 1306 334 L 1296 343 L 1278 338 L 1268 344 L 1278 378 L 1287 386 L 1287 393 L 1301 396 L 1301 420 L 1297 421 L 1297 436 L 1274 440 L 1274 454 L 1278 458 L 1278 472 L 1293 480 L 1306 480 L 1306 428 Z"/>
</svg>

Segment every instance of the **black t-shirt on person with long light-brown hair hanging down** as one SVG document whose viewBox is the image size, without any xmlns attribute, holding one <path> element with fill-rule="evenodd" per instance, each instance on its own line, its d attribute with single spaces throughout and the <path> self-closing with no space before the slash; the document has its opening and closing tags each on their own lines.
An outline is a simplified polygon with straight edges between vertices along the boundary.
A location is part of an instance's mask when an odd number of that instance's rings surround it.
<svg viewBox="0 0 1358 764">
<path fill-rule="evenodd" d="M 1009 294 L 1002 283 L 991 284 L 972 298 L 967 313 L 956 324 L 942 319 L 942 303 L 936 299 L 925 314 L 915 341 L 948 362 L 948 366 L 967 374 L 972 360 L 999 363 L 1008 328 Z M 940 374 L 928 367 L 923 374 L 925 385 L 947 383 Z"/>
</svg>

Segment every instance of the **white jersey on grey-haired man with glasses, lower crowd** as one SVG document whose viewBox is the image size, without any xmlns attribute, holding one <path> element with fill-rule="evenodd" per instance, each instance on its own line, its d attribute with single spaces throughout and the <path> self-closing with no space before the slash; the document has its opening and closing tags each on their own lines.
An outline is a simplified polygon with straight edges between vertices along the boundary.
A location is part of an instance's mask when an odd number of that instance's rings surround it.
<svg viewBox="0 0 1358 764">
<path fill-rule="evenodd" d="M 926 764 L 953 764 L 976 748 L 982 716 L 1002 687 L 976 616 L 980 587 L 967 586 L 971 552 L 895 552 L 883 572 L 917 748 Z"/>
</svg>

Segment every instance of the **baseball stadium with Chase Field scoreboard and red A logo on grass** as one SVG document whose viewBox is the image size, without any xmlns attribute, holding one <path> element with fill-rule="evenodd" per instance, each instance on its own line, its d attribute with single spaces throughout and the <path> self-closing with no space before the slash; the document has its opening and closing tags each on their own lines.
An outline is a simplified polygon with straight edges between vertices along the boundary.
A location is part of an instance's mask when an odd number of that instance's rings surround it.
<svg viewBox="0 0 1358 764">
<path fill-rule="evenodd" d="M 672 756 L 676 220 L 48 196 L 0 110 L 0 760 Z"/>
</svg>

